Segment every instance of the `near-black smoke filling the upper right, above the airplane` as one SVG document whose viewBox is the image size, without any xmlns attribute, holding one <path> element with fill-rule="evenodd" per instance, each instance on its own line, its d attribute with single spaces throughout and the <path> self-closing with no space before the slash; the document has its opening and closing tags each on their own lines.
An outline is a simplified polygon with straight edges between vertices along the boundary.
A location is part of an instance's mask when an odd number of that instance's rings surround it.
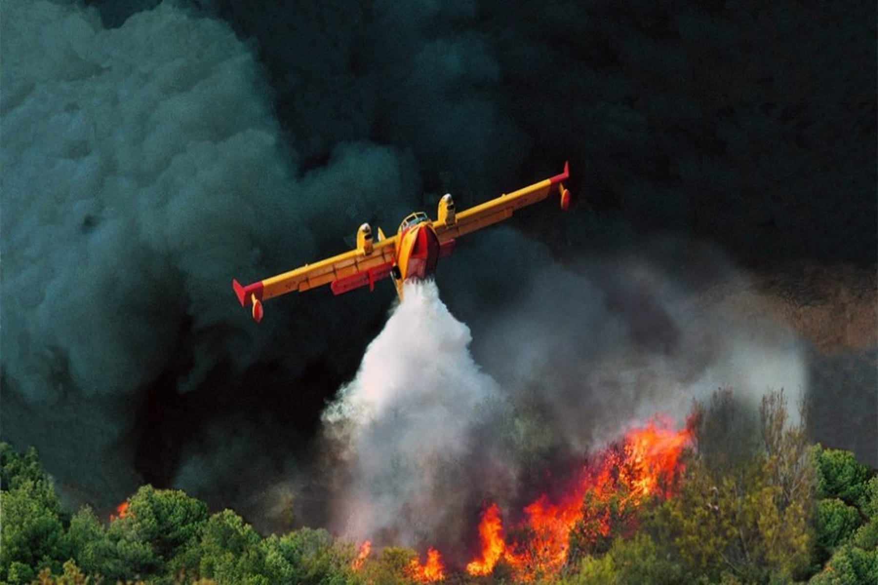
<svg viewBox="0 0 878 585">
<path fill-rule="evenodd" d="M 368 137 L 411 149 L 428 186 L 483 196 L 570 159 L 601 232 L 874 264 L 866 3 L 212 5 L 258 44 L 306 166 Z"/>
</svg>

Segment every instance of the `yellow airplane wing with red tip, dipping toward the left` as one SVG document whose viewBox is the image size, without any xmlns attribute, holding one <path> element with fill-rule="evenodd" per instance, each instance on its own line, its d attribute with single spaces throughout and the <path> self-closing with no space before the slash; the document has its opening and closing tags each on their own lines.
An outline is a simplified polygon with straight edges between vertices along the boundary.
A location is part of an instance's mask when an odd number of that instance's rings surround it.
<svg viewBox="0 0 878 585">
<path fill-rule="evenodd" d="M 364 227 L 368 232 L 365 238 Z M 242 286 L 233 279 L 232 287 L 242 307 L 252 305 L 253 319 L 257 323 L 263 318 L 262 301 L 273 296 L 285 295 L 294 290 L 301 292 L 324 284 L 330 284 L 335 295 L 366 284 L 371 289 L 375 282 L 390 275 L 396 255 L 397 236 L 383 238 L 384 234 L 380 230 L 378 232 L 382 239 L 372 245 L 371 228 L 363 225 L 357 232 L 357 247 L 354 250 L 247 286 Z"/>
</svg>

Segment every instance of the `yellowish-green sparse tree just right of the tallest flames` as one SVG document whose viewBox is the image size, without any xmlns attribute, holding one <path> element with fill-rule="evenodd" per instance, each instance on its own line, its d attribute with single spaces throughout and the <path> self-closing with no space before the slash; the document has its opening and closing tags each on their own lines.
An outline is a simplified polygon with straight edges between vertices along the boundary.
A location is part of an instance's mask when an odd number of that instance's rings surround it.
<svg viewBox="0 0 878 585">
<path fill-rule="evenodd" d="M 729 404 L 719 404 L 728 417 Z M 705 410 L 702 424 L 710 416 Z M 802 426 L 789 424 L 781 393 L 766 396 L 759 421 L 757 451 L 748 458 L 721 458 L 718 465 L 694 453 L 679 495 L 651 517 L 652 533 L 671 544 L 669 553 L 692 575 L 713 581 L 724 572 L 726 579 L 742 581 L 807 576 L 814 485 L 808 444 Z"/>
</svg>

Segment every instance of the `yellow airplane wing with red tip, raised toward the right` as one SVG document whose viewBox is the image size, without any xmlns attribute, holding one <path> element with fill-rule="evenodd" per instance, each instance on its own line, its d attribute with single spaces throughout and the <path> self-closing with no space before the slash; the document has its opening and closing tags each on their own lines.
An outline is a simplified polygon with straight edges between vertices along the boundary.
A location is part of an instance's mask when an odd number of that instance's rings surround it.
<svg viewBox="0 0 878 585">
<path fill-rule="evenodd" d="M 570 166 L 564 163 L 564 172 L 544 181 L 535 182 L 523 189 L 512 193 L 505 193 L 485 203 L 480 203 L 468 210 L 457 214 L 440 212 L 440 218 L 434 222 L 436 235 L 441 243 L 445 243 L 457 236 L 463 236 L 469 232 L 475 232 L 487 225 L 496 224 L 504 219 L 511 218 L 515 210 L 527 207 L 533 203 L 543 201 L 549 196 L 552 188 L 558 185 L 561 195 L 561 209 L 567 210 L 570 205 L 570 191 L 565 189 L 562 181 L 570 176 Z M 443 223 L 443 216 L 445 219 Z"/>
</svg>

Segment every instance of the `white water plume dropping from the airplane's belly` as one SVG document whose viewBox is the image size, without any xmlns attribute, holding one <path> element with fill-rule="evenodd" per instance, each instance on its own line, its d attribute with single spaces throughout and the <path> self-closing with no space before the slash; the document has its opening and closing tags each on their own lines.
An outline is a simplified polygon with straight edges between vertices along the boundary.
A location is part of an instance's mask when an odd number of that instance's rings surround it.
<svg viewBox="0 0 878 585">
<path fill-rule="evenodd" d="M 435 282 L 406 283 L 404 293 L 324 420 L 350 474 L 335 506 L 338 528 L 414 546 L 464 516 L 455 503 L 470 488 L 461 472 L 473 433 L 503 403 Z"/>
</svg>

